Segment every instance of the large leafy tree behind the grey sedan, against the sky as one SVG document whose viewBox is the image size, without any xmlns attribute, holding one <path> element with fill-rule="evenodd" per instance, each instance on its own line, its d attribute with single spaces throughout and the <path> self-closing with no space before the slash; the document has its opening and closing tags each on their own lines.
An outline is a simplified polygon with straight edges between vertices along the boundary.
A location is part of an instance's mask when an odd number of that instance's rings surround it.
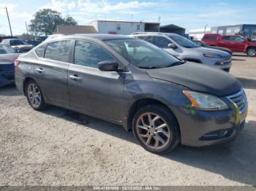
<svg viewBox="0 0 256 191">
<path fill-rule="evenodd" d="M 58 25 L 75 26 L 78 23 L 72 17 L 61 17 L 61 13 L 52 9 L 41 9 L 35 13 L 30 21 L 29 31 L 37 35 L 53 34 Z"/>
</svg>

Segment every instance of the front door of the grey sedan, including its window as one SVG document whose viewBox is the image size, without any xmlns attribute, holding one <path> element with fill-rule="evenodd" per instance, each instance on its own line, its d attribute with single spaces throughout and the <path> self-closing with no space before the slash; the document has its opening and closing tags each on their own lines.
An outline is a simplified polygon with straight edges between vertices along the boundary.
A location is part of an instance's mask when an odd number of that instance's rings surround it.
<svg viewBox="0 0 256 191">
<path fill-rule="evenodd" d="M 98 63 L 115 60 L 105 47 L 76 40 L 68 71 L 70 106 L 111 120 L 121 120 L 124 73 L 99 71 Z"/>
</svg>

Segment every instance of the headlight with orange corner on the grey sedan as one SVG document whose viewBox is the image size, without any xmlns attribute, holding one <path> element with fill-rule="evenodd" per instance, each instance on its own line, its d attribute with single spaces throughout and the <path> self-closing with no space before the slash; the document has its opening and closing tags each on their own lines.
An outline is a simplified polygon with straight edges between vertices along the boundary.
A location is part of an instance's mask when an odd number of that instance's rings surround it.
<svg viewBox="0 0 256 191">
<path fill-rule="evenodd" d="M 229 106 L 225 104 L 220 98 L 215 95 L 206 93 L 197 93 L 193 91 L 183 91 L 184 95 L 187 96 L 191 101 L 191 107 L 200 110 L 224 110 L 229 109 Z"/>
</svg>

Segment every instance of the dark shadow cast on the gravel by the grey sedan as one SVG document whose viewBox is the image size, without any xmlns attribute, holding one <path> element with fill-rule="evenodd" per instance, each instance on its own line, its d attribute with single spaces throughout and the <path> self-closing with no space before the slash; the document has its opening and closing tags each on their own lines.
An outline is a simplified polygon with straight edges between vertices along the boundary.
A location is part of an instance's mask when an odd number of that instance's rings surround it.
<svg viewBox="0 0 256 191">
<path fill-rule="evenodd" d="M 132 132 L 127 132 L 119 125 L 97 120 L 77 112 L 52 106 L 45 114 L 60 117 L 64 120 L 86 125 L 88 128 L 99 130 L 110 136 L 137 144 Z M 229 144 L 214 147 L 185 147 L 178 146 L 173 152 L 159 157 L 176 160 L 179 163 L 200 168 L 214 174 L 220 174 L 243 184 L 256 185 L 256 121 L 246 122 L 244 130 L 237 139 Z M 138 147 L 140 147 L 138 145 Z"/>
</svg>

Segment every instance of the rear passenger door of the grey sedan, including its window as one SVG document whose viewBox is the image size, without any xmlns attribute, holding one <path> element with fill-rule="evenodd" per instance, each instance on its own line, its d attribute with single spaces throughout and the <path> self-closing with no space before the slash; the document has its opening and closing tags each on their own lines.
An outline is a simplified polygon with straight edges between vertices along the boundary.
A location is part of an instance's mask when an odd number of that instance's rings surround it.
<svg viewBox="0 0 256 191">
<path fill-rule="evenodd" d="M 42 50 L 35 50 L 38 52 L 37 56 L 43 57 L 34 63 L 37 83 L 47 101 L 69 106 L 67 69 L 70 62 L 71 40 L 50 42 L 44 53 Z"/>
</svg>

